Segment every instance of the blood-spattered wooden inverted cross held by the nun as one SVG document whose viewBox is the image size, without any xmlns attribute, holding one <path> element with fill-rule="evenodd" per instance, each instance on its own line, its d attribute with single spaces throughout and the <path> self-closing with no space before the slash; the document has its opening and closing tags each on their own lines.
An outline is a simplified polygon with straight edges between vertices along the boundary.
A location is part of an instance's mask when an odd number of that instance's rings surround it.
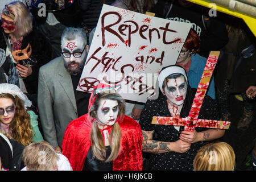
<svg viewBox="0 0 256 182">
<path fill-rule="evenodd" d="M 209 86 L 210 78 L 212 77 L 213 70 L 217 64 L 220 51 L 211 51 L 205 64 L 204 72 L 196 90 L 196 95 L 189 111 L 189 115 L 186 118 L 174 118 L 174 117 L 159 117 L 154 116 L 152 124 L 156 125 L 175 125 L 184 126 L 185 131 L 193 131 L 195 127 L 207 127 L 213 129 L 225 129 L 228 130 L 230 126 L 229 121 L 216 121 L 209 119 L 198 119 L 198 115 L 203 104 L 205 93 Z"/>
</svg>

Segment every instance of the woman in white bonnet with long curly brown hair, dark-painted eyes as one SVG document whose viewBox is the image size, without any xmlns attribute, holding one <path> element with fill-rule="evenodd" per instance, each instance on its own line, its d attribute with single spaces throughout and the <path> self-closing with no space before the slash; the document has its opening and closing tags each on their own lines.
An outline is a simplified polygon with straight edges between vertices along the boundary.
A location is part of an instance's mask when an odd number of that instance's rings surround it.
<svg viewBox="0 0 256 182">
<path fill-rule="evenodd" d="M 12 139 L 27 146 L 43 137 L 38 128 L 38 116 L 28 110 L 31 101 L 13 84 L 0 84 L 0 129 Z"/>
</svg>

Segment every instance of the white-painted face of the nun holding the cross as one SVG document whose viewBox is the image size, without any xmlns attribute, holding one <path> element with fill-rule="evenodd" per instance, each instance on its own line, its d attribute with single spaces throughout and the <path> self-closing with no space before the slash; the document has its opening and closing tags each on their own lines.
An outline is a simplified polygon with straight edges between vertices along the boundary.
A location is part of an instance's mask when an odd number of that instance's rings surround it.
<svg viewBox="0 0 256 182">
<path fill-rule="evenodd" d="M 182 105 L 187 94 L 187 83 L 184 76 L 168 79 L 164 94 L 172 104 Z"/>
</svg>

